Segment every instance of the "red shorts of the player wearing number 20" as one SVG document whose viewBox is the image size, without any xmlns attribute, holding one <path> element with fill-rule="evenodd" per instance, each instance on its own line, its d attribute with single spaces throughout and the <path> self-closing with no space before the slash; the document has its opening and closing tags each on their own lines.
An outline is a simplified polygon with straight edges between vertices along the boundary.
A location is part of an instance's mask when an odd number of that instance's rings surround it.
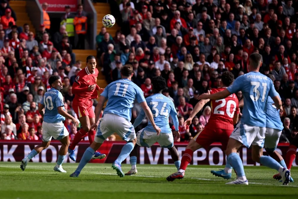
<svg viewBox="0 0 298 199">
<path fill-rule="evenodd" d="M 204 128 L 193 138 L 199 145 L 205 149 L 208 148 L 213 142 L 220 142 L 222 150 L 226 150 L 229 137 L 232 134 L 231 130 L 218 129 L 218 128 Z"/>
</svg>

